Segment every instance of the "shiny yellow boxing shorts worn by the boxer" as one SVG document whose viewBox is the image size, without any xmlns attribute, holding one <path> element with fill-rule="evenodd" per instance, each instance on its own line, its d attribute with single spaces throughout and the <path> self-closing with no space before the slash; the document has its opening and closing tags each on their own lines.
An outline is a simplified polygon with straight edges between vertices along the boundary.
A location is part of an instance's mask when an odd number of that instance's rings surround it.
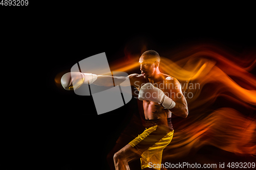
<svg viewBox="0 0 256 170">
<path fill-rule="evenodd" d="M 141 169 L 149 167 L 148 163 L 161 164 L 163 149 L 173 139 L 174 130 L 164 126 L 156 125 L 146 128 L 143 133 L 132 140 L 129 144 L 141 153 Z M 160 170 L 160 168 L 155 168 Z"/>
</svg>

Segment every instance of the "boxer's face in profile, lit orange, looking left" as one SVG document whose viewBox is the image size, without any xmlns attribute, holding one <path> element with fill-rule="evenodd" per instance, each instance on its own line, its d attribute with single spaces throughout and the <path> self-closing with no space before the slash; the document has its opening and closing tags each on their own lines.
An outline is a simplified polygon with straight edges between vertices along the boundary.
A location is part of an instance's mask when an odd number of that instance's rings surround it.
<svg viewBox="0 0 256 170">
<path fill-rule="evenodd" d="M 144 78 L 151 78 L 156 70 L 155 59 L 148 56 L 141 56 L 139 59 L 141 74 Z"/>
</svg>

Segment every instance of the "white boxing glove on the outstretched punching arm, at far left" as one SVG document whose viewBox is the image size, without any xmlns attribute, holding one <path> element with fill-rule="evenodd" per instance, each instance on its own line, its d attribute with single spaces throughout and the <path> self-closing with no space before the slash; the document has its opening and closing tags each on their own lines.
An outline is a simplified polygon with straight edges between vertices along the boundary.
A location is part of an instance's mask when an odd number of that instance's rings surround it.
<svg viewBox="0 0 256 170">
<path fill-rule="evenodd" d="M 97 75 L 91 73 L 68 72 L 61 77 L 60 83 L 66 90 L 74 90 L 82 84 L 92 84 L 95 80 Z"/>
</svg>

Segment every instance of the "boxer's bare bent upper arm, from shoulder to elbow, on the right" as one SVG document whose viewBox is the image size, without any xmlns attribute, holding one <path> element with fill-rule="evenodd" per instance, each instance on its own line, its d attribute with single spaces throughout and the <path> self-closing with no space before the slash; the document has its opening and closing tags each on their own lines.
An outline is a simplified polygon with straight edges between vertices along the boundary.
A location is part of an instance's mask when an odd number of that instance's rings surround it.
<svg viewBox="0 0 256 170">
<path fill-rule="evenodd" d="M 172 109 L 168 109 L 173 112 L 175 115 L 186 118 L 188 115 L 187 101 L 182 93 L 180 82 L 174 78 L 172 80 L 173 89 L 170 89 L 170 98 L 176 103 L 175 107 Z"/>
</svg>

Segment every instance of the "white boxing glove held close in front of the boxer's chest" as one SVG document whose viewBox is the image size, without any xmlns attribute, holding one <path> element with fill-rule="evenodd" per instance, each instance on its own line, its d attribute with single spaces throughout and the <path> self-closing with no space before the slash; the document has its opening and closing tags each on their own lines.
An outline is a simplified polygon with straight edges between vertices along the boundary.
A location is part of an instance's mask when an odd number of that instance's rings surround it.
<svg viewBox="0 0 256 170">
<path fill-rule="evenodd" d="M 158 104 L 162 104 L 165 109 L 172 109 L 176 106 L 176 103 L 164 94 L 162 90 L 154 87 L 151 83 L 146 83 L 140 88 L 138 99 L 143 101 L 152 101 Z"/>
</svg>

